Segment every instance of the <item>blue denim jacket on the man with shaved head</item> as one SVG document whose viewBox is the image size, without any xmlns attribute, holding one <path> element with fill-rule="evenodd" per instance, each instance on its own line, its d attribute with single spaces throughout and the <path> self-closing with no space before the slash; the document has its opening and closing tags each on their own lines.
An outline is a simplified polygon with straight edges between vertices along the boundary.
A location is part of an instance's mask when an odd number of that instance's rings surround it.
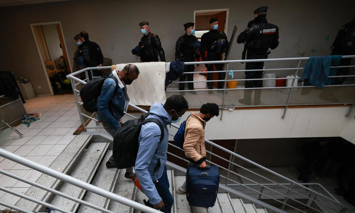
<svg viewBox="0 0 355 213">
<path fill-rule="evenodd" d="M 113 76 L 112 74 L 110 76 Z M 119 120 L 125 115 L 125 87 L 118 86 L 117 94 L 114 94 L 116 82 L 107 78 L 102 85 L 101 95 L 97 99 L 97 118 L 107 123 L 113 131 L 118 130 Z"/>
</svg>

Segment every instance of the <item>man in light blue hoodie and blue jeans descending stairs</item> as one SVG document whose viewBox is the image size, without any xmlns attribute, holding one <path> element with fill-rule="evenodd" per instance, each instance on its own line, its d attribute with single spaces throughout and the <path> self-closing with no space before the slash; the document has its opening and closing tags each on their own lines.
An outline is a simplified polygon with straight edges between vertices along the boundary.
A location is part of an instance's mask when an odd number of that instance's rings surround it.
<svg viewBox="0 0 355 213">
<path fill-rule="evenodd" d="M 160 129 L 154 122 L 142 125 L 138 138 L 139 149 L 135 164 L 137 178 L 144 193 L 149 198 L 146 206 L 170 213 L 174 199 L 169 191 L 166 174 L 166 152 L 168 151 L 169 131 L 167 125 L 178 122 L 189 108 L 181 95 L 172 95 L 165 104 L 154 104 L 147 118 L 157 118 L 164 127 L 164 139 L 160 142 Z"/>
</svg>

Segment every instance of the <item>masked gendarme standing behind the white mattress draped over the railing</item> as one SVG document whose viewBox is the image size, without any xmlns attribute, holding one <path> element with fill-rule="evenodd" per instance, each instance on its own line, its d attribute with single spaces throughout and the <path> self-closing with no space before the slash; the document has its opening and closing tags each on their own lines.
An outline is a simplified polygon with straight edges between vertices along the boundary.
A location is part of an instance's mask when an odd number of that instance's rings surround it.
<svg viewBox="0 0 355 213">
<path fill-rule="evenodd" d="M 143 21 L 139 23 L 143 37 L 139 43 L 140 57 L 142 62 L 165 61 L 165 53 L 162 48 L 159 36 L 149 31 L 149 22 Z"/>
</svg>

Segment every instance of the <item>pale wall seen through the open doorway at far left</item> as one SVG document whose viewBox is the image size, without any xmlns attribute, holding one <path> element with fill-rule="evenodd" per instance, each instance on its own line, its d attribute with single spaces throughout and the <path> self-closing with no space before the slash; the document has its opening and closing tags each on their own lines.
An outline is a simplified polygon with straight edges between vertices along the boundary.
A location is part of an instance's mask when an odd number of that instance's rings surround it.
<svg viewBox="0 0 355 213">
<path fill-rule="evenodd" d="M 60 48 L 60 40 L 56 25 L 57 24 L 42 25 L 43 34 L 49 50 L 50 59 L 52 61 L 63 55 L 63 51 Z"/>
</svg>

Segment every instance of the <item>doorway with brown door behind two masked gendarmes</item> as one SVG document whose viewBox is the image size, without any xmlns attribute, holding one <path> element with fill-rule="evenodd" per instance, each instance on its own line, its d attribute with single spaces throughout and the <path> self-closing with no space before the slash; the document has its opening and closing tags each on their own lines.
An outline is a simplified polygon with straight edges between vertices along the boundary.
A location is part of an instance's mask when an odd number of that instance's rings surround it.
<svg viewBox="0 0 355 213">
<path fill-rule="evenodd" d="M 204 33 L 207 33 L 211 27 L 209 24 L 209 20 L 211 18 L 217 18 L 218 20 L 218 30 L 223 31 L 227 34 L 227 25 L 228 25 L 228 13 L 229 9 L 217 9 L 217 10 L 196 10 L 193 12 L 193 22 L 195 23 L 195 36 L 199 41 L 201 41 L 201 37 Z M 206 53 L 201 53 L 206 54 Z M 223 56 L 222 56 L 223 57 Z M 213 65 L 214 70 L 216 70 Z M 195 67 L 195 72 L 207 72 L 207 67 L 205 65 Z M 206 81 L 207 74 L 200 75 L 194 74 L 193 79 L 195 81 Z M 213 73 L 213 80 L 218 80 L 218 74 Z M 217 82 L 213 83 L 215 87 L 217 87 Z M 207 88 L 206 82 L 194 83 L 194 88 L 196 89 L 204 89 Z"/>
</svg>

